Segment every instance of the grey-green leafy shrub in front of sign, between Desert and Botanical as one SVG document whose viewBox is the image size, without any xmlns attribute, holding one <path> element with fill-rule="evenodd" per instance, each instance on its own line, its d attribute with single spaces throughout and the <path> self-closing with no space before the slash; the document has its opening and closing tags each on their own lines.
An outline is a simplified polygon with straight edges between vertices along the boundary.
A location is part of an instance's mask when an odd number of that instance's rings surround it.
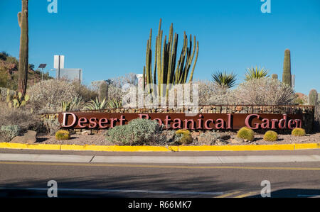
<svg viewBox="0 0 320 212">
<path fill-rule="evenodd" d="M 156 143 L 161 128 L 157 121 L 134 119 L 127 125 L 118 125 L 107 131 L 107 140 L 118 145 Z"/>
</svg>

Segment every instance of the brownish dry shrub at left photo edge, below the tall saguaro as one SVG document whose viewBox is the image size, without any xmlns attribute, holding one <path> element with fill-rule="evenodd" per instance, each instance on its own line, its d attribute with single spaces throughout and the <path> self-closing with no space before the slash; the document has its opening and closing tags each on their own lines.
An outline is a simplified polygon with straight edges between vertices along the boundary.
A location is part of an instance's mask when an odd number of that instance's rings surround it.
<svg viewBox="0 0 320 212">
<path fill-rule="evenodd" d="M 34 113 L 26 108 L 9 108 L 4 102 L 0 102 L 0 127 L 2 125 L 18 125 L 21 130 L 35 130 L 43 132 L 43 122 Z"/>
</svg>

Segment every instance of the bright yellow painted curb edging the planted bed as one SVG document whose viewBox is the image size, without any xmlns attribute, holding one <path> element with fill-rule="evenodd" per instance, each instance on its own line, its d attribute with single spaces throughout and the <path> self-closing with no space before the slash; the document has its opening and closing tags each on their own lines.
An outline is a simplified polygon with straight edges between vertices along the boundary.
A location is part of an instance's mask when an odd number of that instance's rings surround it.
<svg viewBox="0 0 320 212">
<path fill-rule="evenodd" d="M 207 151 L 269 151 L 269 150 L 314 150 L 320 143 L 284 145 L 221 145 L 221 146 L 98 146 L 98 145 L 49 145 L 0 143 L 0 149 L 18 150 L 69 150 L 98 152 L 207 152 Z"/>
</svg>

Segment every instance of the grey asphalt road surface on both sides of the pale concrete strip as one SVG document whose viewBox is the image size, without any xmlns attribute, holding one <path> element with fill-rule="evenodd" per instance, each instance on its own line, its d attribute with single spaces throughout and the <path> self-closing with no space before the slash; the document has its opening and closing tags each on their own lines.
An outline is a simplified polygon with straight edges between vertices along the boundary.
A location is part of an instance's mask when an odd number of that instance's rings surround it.
<svg viewBox="0 0 320 212">
<path fill-rule="evenodd" d="M 0 150 L 0 153 L 90 155 L 92 152 Z M 320 155 L 319 150 L 272 152 L 95 152 L 95 155 Z M 317 169 L 313 169 L 317 168 Z M 0 197 L 48 197 L 54 180 L 58 197 L 212 198 L 320 197 L 319 162 L 250 164 L 90 164 L 0 162 Z"/>
</svg>

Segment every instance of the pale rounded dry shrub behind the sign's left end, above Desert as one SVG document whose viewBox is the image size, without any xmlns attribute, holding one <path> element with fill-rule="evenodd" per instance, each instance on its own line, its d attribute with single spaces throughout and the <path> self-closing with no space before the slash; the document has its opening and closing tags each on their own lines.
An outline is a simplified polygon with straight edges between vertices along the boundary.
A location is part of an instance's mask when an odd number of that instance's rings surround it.
<svg viewBox="0 0 320 212">
<path fill-rule="evenodd" d="M 38 113 L 60 111 L 62 101 L 72 101 L 78 97 L 73 84 L 57 79 L 38 82 L 27 90 L 27 94 L 33 110 Z"/>
</svg>

